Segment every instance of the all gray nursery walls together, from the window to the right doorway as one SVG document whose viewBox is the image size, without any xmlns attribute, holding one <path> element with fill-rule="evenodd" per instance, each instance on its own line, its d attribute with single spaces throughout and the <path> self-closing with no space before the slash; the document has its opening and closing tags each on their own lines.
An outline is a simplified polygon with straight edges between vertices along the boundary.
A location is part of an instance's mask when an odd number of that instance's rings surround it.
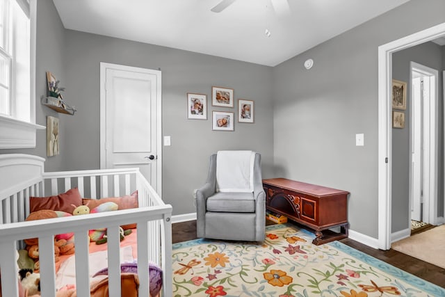
<svg viewBox="0 0 445 297">
<path fill-rule="evenodd" d="M 422 13 L 419 13 L 421 11 Z M 378 47 L 445 22 L 444 0 L 411 0 L 276 67 L 266 67 L 179 49 L 63 29 L 51 0 L 38 0 L 37 122 L 60 118 L 60 155 L 47 170 L 99 168 L 99 63 L 162 71 L 163 198 L 173 214 L 195 212 L 209 156 L 217 150 L 261 153 L 263 177 L 287 177 L 350 191 L 352 230 L 378 237 Z M 445 55 L 445 52 L 444 52 Z M 307 58 L 314 67 L 305 70 Z M 445 66 L 445 65 L 444 65 Z M 40 104 L 44 72 L 67 88 L 74 116 Z M 186 120 L 186 93 L 211 86 L 234 88 L 235 99 L 253 99 L 254 124 L 211 131 L 209 120 Z M 355 134 L 364 146 L 355 146 Z M 33 150 L 2 150 L 46 156 L 46 131 Z M 393 207 L 394 208 L 394 207 Z M 398 215 L 396 215 L 398 216 Z"/>
</svg>

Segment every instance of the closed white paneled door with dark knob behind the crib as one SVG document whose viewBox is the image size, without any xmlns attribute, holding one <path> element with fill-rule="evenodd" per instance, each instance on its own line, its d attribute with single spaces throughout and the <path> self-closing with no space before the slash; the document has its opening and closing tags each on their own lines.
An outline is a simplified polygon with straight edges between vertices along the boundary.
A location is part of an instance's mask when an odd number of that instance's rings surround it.
<svg viewBox="0 0 445 297">
<path fill-rule="evenodd" d="M 139 168 L 161 195 L 161 71 L 101 63 L 101 168 Z"/>
</svg>

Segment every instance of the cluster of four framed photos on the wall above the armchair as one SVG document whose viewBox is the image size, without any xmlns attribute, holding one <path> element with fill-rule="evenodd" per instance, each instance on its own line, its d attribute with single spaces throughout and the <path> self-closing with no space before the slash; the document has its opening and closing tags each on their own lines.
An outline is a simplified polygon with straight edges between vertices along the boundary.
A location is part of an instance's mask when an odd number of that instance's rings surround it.
<svg viewBox="0 0 445 297">
<path fill-rule="evenodd" d="M 211 87 L 211 105 L 234 108 L 234 89 L 218 86 Z M 187 118 L 189 120 L 207 120 L 207 95 L 187 93 Z M 238 99 L 238 123 L 254 123 L 254 100 Z M 212 111 L 213 131 L 234 131 L 234 112 Z"/>
</svg>

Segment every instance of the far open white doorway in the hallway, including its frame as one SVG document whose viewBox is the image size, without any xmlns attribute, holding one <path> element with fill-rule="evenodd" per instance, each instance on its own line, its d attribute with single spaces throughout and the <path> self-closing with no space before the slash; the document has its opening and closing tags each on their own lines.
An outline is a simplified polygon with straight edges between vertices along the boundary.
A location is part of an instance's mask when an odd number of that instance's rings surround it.
<svg viewBox="0 0 445 297">
<path fill-rule="evenodd" d="M 435 223 L 437 171 L 431 150 L 437 143 L 439 72 L 410 63 L 410 230 L 411 234 Z M 432 211 L 430 209 L 432 208 Z"/>
</svg>

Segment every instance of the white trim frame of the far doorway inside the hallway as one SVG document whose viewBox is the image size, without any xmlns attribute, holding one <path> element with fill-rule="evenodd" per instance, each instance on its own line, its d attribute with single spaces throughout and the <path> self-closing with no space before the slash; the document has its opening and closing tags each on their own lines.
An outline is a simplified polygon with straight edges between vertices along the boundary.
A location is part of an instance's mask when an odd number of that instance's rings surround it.
<svg viewBox="0 0 445 297">
<path fill-rule="evenodd" d="M 439 71 L 433 68 L 410 62 L 410 106 L 413 105 L 413 93 L 412 93 L 412 72 L 416 71 L 424 75 L 424 77 L 435 77 L 434 93 L 430 92 L 429 104 L 423 104 L 423 117 L 422 117 L 422 130 L 423 130 L 423 211 L 422 221 L 430 223 L 432 225 L 437 224 L 437 157 L 439 152 L 438 147 L 438 113 L 439 113 Z M 431 99 L 432 97 L 432 99 Z M 425 109 L 428 108 L 428 112 Z M 411 108 L 411 115 L 413 115 L 413 109 Z M 412 119 L 412 117 L 411 117 Z M 412 127 L 412 120 L 410 121 L 410 127 Z M 425 133 L 427 132 L 428 133 Z M 410 147 L 412 145 L 412 130 L 410 131 Z M 429 161 L 428 161 L 429 160 Z M 412 154 L 410 154 L 410 177 L 412 177 Z M 412 187 L 412 180 L 410 179 L 410 189 Z M 412 203 L 412 193 L 410 191 L 410 203 Z M 411 204 L 410 204 L 411 205 Z M 411 220 L 411 211 L 409 211 L 409 218 Z M 408 228 L 411 228 L 411 222 L 408 220 Z"/>
</svg>

